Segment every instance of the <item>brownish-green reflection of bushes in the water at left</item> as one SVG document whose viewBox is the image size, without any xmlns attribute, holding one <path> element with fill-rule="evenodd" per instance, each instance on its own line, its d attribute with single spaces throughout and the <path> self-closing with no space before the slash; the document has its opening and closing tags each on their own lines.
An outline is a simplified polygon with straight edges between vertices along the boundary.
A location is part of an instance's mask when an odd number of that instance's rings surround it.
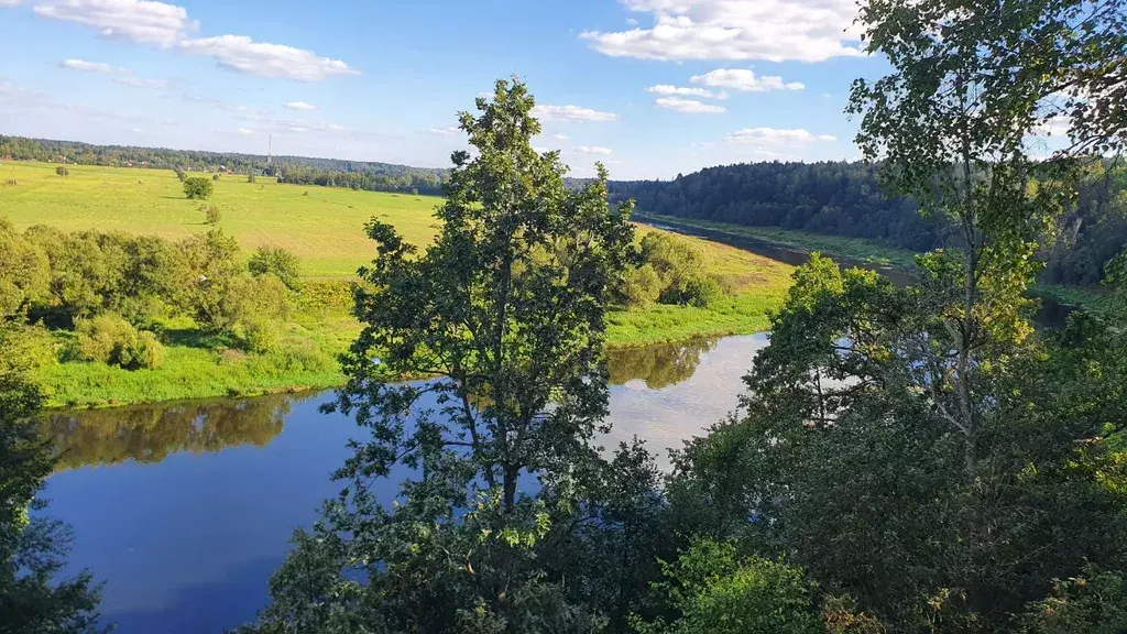
<svg viewBox="0 0 1127 634">
<path fill-rule="evenodd" d="M 282 432 L 293 395 L 222 399 L 50 414 L 43 432 L 62 452 L 59 469 L 159 463 L 178 451 L 264 447 Z"/>
</svg>

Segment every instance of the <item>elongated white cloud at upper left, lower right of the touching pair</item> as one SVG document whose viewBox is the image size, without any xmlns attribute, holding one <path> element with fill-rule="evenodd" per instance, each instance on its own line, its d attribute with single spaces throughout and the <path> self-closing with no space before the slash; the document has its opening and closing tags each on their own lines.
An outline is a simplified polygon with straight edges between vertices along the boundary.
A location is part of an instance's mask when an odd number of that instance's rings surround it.
<svg viewBox="0 0 1127 634">
<path fill-rule="evenodd" d="M 255 42 L 246 35 L 186 39 L 179 46 L 189 53 L 211 55 L 222 68 L 260 77 L 320 81 L 335 74 L 360 74 L 340 60 L 283 44 Z"/>
</svg>

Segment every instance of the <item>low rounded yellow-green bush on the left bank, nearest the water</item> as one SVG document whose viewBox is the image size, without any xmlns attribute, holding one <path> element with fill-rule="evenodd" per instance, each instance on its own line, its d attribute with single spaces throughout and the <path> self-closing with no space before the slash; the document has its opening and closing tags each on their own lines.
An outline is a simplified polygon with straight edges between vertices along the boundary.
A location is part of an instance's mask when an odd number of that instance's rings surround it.
<svg viewBox="0 0 1127 634">
<path fill-rule="evenodd" d="M 81 320 L 76 332 L 78 355 L 86 361 L 100 361 L 126 370 L 159 368 L 165 363 L 165 346 L 157 336 L 137 331 L 119 315 L 107 312 Z"/>
</svg>

